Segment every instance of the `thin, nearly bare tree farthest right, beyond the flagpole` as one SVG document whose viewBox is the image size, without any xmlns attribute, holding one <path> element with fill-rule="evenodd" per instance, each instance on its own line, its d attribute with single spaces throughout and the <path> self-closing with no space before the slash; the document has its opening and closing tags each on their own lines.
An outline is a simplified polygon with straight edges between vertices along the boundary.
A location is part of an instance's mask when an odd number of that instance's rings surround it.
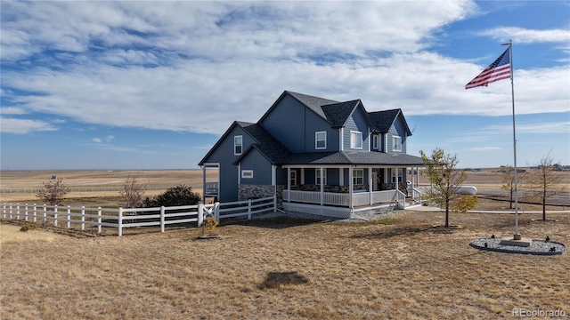
<svg viewBox="0 0 570 320">
<path fill-rule="evenodd" d="M 543 156 L 536 168 L 528 172 L 526 186 L 531 190 L 530 198 L 542 204 L 542 220 L 546 220 L 546 201 L 550 196 L 556 196 L 566 190 L 562 184 L 562 176 L 555 169 L 559 164 L 554 164 L 550 157 Z"/>
</svg>

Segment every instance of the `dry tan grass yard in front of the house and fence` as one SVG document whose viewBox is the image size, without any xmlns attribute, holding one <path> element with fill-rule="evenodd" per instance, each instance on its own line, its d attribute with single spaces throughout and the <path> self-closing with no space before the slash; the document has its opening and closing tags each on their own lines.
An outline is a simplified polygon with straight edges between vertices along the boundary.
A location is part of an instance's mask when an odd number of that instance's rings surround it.
<svg viewBox="0 0 570 320">
<path fill-rule="evenodd" d="M 520 218 L 524 236 L 570 244 L 570 214 Z M 496 319 L 570 314 L 570 255 L 481 252 L 512 214 L 403 212 L 365 223 L 250 220 L 76 238 L 1 228 L 2 319 Z"/>
</svg>

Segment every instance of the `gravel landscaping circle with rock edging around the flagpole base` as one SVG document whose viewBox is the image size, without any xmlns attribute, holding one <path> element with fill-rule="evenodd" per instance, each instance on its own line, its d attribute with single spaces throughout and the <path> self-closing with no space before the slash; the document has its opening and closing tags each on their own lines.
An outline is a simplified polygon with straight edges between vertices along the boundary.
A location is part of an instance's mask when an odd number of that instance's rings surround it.
<svg viewBox="0 0 570 320">
<path fill-rule="evenodd" d="M 486 245 L 485 245 L 486 244 Z M 501 238 L 479 238 L 469 244 L 485 251 L 535 255 L 557 255 L 566 252 L 566 246 L 554 241 L 533 240 L 530 246 L 502 245 Z"/>
</svg>

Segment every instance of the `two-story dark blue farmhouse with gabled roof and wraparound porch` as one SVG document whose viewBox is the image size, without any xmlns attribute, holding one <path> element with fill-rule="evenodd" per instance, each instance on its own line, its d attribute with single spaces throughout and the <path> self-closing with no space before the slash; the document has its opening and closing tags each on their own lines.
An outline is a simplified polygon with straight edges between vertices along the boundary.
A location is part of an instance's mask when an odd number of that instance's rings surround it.
<svg viewBox="0 0 570 320">
<path fill-rule="evenodd" d="M 413 190 L 406 169 L 423 162 L 406 154 L 410 136 L 401 109 L 368 112 L 361 100 L 285 91 L 256 124 L 234 122 L 199 162 L 204 196 L 275 195 L 286 211 L 333 217 L 379 208 Z"/>
</svg>

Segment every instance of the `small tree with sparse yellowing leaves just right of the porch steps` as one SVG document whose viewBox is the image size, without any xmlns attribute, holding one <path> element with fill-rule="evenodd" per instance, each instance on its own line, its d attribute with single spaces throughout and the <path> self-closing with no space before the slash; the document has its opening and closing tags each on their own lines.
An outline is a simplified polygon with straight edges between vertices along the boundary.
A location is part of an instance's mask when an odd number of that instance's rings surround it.
<svg viewBox="0 0 570 320">
<path fill-rule="evenodd" d="M 456 170 L 457 156 L 445 155 L 441 148 L 436 148 L 431 156 L 419 150 L 419 155 L 426 164 L 426 174 L 433 186 L 428 198 L 445 208 L 445 228 L 449 228 L 450 207 L 467 212 L 476 205 L 476 196 L 461 193 L 457 188 L 467 179 L 467 173 Z"/>
</svg>

